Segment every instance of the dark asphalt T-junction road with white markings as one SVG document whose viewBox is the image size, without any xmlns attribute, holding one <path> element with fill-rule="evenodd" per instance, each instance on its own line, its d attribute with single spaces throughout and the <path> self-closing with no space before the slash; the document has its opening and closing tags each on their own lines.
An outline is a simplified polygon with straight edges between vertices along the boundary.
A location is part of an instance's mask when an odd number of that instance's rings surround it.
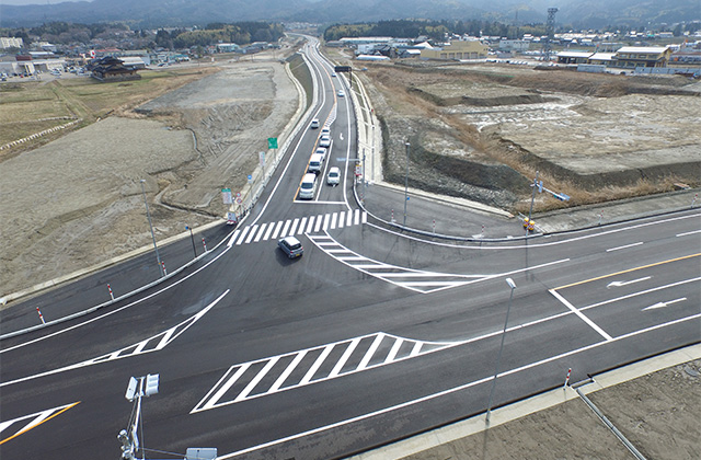
<svg viewBox="0 0 701 460">
<path fill-rule="evenodd" d="M 129 378 L 159 373 L 142 400 L 147 448 L 341 458 L 484 412 L 507 310 L 494 406 L 562 386 L 567 368 L 577 381 L 699 341 L 698 212 L 502 243 L 398 231 L 349 198 L 350 101 L 308 54 L 319 117 L 333 118 L 326 165 L 345 163 L 344 183 L 297 199 L 318 136 L 303 130 L 217 251 L 124 302 L 2 341 L 0 457 L 117 457 Z M 289 233 L 299 260 L 276 249 Z"/>
</svg>

